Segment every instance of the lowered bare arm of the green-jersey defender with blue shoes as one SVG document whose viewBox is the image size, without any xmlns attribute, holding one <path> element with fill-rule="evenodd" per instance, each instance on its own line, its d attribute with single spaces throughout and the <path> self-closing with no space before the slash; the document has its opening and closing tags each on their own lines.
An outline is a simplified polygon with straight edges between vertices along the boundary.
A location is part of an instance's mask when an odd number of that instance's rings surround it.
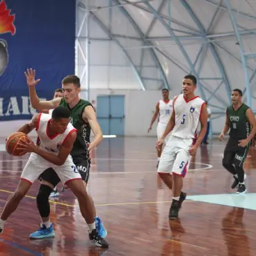
<svg viewBox="0 0 256 256">
<path fill-rule="evenodd" d="M 95 113 L 93 107 L 87 106 L 84 108 L 84 112 L 82 114 L 82 119 L 85 122 L 89 122 L 91 130 L 93 131 L 93 134 L 94 134 L 94 140 L 92 143 L 90 143 L 90 146 L 89 146 L 89 151 L 90 151 L 91 149 L 97 147 L 100 144 L 100 142 L 102 141 L 102 139 L 103 139 L 102 131 L 100 129 L 100 125 L 98 123 L 96 113 Z"/>
</svg>

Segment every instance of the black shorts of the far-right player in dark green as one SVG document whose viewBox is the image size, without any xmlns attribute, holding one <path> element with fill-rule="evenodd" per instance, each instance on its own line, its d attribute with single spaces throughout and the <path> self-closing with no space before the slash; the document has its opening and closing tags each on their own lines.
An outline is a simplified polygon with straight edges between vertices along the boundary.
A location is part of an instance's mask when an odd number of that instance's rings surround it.
<svg viewBox="0 0 256 256">
<path fill-rule="evenodd" d="M 236 167 L 243 167 L 244 161 L 248 154 L 249 145 L 246 147 L 239 147 L 239 141 L 241 139 L 229 138 L 228 143 L 224 149 L 223 163 L 232 163 Z"/>
</svg>

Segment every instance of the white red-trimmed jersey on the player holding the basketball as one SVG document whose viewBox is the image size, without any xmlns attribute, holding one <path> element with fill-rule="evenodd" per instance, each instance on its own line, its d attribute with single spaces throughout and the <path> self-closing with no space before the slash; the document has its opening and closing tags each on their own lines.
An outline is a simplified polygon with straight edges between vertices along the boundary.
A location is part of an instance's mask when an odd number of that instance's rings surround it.
<svg viewBox="0 0 256 256">
<path fill-rule="evenodd" d="M 51 116 L 49 114 L 39 113 L 39 117 L 37 120 L 37 127 L 35 128 L 38 136 L 37 146 L 40 149 L 57 156 L 60 152 L 60 146 L 64 143 L 66 138 L 68 138 L 68 136 L 70 136 L 70 134 L 73 133 L 74 131 L 77 131 L 77 129 L 75 129 L 73 125 L 71 125 L 71 123 L 68 123 L 68 127 L 66 128 L 66 131 L 64 131 L 63 134 L 56 134 L 55 136 L 49 136 L 48 127 L 49 127 L 50 121 L 51 121 Z M 38 159 L 42 157 L 35 153 L 31 153 L 29 159 L 34 160 L 35 158 Z M 41 160 L 43 159 L 44 158 L 42 158 Z M 70 163 L 70 161 L 72 161 L 72 157 L 69 155 L 64 165 L 67 162 Z M 50 162 L 48 163 L 49 165 L 53 166 L 52 163 Z"/>
</svg>

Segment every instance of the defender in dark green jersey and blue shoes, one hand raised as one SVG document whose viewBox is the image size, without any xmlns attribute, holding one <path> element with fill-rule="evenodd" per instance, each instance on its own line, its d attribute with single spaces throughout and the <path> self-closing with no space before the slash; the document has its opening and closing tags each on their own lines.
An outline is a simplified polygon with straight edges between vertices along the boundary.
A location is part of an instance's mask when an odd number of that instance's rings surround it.
<svg viewBox="0 0 256 256">
<path fill-rule="evenodd" d="M 55 109 L 55 107 L 64 106 L 71 111 L 71 123 L 77 129 L 77 138 L 71 151 L 73 162 L 75 163 L 77 170 L 80 172 L 84 181 L 84 187 L 89 180 L 89 170 L 91 165 L 91 159 L 89 152 L 95 149 L 102 141 L 102 131 L 98 124 L 95 111 L 90 102 L 79 98 L 80 93 L 80 79 L 76 75 L 68 75 L 62 80 L 62 89 L 64 92 L 64 98 L 55 98 L 50 101 L 40 101 L 35 86 L 39 80 L 35 81 L 35 70 L 28 69 L 25 73 L 27 78 L 27 84 L 30 93 L 30 102 L 35 109 Z M 90 143 L 91 129 L 94 134 L 94 140 Z M 51 194 L 53 188 L 60 182 L 60 178 L 55 172 L 46 170 L 40 175 L 42 184 L 37 194 L 37 208 L 44 223 L 43 228 L 40 228 L 36 232 L 30 234 L 30 238 L 41 239 L 48 237 L 51 234 L 50 223 L 50 210 L 47 212 L 44 210 L 49 209 L 48 197 Z M 96 210 L 91 196 L 87 196 L 86 205 L 89 210 L 93 211 L 95 217 L 96 229 L 102 238 L 107 236 L 107 230 L 105 230 L 103 223 L 99 217 L 96 216 Z"/>
</svg>

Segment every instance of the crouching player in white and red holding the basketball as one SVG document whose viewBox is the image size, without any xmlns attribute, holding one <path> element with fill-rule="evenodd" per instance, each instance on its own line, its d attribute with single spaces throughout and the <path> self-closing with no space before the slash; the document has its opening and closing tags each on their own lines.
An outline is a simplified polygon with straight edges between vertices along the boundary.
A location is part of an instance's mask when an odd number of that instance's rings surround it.
<svg viewBox="0 0 256 256">
<path fill-rule="evenodd" d="M 70 155 L 77 136 L 77 129 L 71 125 L 70 118 L 70 111 L 66 107 L 60 106 L 53 110 L 52 118 L 48 114 L 37 113 L 28 124 L 18 130 L 29 134 L 35 129 L 40 138 L 40 145 L 36 146 L 32 140 L 30 142 L 21 141 L 17 145 L 17 149 L 21 150 L 21 153 L 31 152 L 31 154 L 21 174 L 17 190 L 10 196 L 1 213 L 0 233 L 3 232 L 5 221 L 17 209 L 19 202 L 27 194 L 33 182 L 44 170 L 52 168 L 60 176 L 62 183 L 68 184 L 77 197 L 82 217 L 89 226 L 90 241 L 96 246 L 107 248 L 109 246 L 107 241 L 102 239 L 95 229 L 93 209 L 88 203 L 90 200 L 84 190 L 82 177 Z M 48 210 L 47 208 L 43 209 L 44 212 L 48 212 Z M 50 228 L 53 230 L 52 224 L 50 224 Z M 54 236 L 54 231 L 48 235 L 48 237 Z"/>
</svg>

